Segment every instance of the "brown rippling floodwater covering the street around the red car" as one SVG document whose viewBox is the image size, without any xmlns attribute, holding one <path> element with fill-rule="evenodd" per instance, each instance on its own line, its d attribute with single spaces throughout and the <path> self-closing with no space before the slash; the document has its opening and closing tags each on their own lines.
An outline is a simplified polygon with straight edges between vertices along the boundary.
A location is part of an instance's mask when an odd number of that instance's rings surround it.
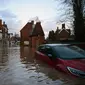
<svg viewBox="0 0 85 85">
<path fill-rule="evenodd" d="M 34 59 L 28 47 L 0 48 L 0 85 L 85 85 L 74 78 Z"/>
</svg>

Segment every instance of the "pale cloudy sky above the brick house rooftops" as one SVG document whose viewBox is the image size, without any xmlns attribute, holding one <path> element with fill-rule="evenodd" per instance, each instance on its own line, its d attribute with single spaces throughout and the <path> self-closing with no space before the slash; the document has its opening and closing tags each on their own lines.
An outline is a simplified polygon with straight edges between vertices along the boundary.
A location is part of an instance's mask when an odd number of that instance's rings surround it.
<svg viewBox="0 0 85 85">
<path fill-rule="evenodd" d="M 0 0 L 0 18 L 7 23 L 9 32 L 19 33 L 37 16 L 47 36 L 50 30 L 56 30 L 61 15 L 59 3 L 55 0 Z"/>
</svg>

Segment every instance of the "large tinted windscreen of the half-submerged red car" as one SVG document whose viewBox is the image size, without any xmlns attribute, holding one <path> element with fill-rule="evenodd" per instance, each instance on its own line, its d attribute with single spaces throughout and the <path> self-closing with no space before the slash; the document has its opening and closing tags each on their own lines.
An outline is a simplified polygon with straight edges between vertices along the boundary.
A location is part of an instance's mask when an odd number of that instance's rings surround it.
<svg viewBox="0 0 85 85">
<path fill-rule="evenodd" d="M 85 51 L 72 46 L 55 46 L 55 52 L 62 59 L 85 59 Z"/>
</svg>

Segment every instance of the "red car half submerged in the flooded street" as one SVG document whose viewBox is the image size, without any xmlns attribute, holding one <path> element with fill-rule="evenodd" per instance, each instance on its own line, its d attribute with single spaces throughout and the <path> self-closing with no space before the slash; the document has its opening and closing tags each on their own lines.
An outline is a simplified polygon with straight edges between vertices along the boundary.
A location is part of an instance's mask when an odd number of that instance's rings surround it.
<svg viewBox="0 0 85 85">
<path fill-rule="evenodd" d="M 36 51 L 37 59 L 68 74 L 85 78 L 85 51 L 69 44 L 43 44 Z"/>
</svg>

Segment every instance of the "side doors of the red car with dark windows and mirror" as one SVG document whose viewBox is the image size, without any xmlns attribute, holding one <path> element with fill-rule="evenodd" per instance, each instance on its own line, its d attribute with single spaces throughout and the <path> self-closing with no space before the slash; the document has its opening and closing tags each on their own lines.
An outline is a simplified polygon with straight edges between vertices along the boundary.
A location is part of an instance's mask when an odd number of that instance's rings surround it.
<svg viewBox="0 0 85 85">
<path fill-rule="evenodd" d="M 37 59 L 44 61 L 45 63 L 48 63 L 51 66 L 54 66 L 54 60 L 53 60 L 53 55 L 52 55 L 52 49 L 50 46 L 40 46 L 38 48 L 38 51 L 36 52 L 36 57 Z"/>
</svg>

